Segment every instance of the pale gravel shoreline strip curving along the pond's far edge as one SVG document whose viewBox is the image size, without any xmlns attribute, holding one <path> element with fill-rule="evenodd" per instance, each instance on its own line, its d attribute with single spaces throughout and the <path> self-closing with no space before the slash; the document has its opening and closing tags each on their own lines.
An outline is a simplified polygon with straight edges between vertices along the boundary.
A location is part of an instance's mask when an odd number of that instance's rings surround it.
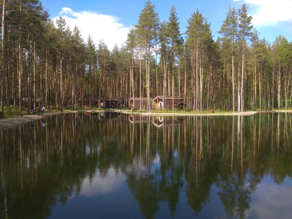
<svg viewBox="0 0 292 219">
<path fill-rule="evenodd" d="M 130 112 L 124 109 L 113 109 L 113 110 L 68 110 L 63 112 L 46 112 L 44 116 L 37 115 L 23 115 L 23 117 L 13 117 L 7 119 L 0 120 L 0 130 L 4 130 L 6 128 L 10 128 L 12 126 L 17 126 L 20 124 L 24 124 L 26 122 L 31 122 L 34 120 L 38 120 L 47 116 L 57 115 L 57 114 L 67 114 L 67 113 L 76 113 L 76 112 L 120 112 L 125 114 L 137 114 L 143 116 L 250 116 L 260 112 L 288 112 L 291 113 L 292 110 L 272 110 L 272 111 L 248 111 L 248 112 L 230 112 L 230 113 L 152 113 L 152 112 Z"/>
</svg>

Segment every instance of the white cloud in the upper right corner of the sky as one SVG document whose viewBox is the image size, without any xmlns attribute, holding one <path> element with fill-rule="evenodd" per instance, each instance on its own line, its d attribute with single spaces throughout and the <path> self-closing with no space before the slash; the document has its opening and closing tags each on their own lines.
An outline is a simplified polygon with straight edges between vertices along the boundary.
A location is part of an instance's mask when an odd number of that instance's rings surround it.
<svg viewBox="0 0 292 219">
<path fill-rule="evenodd" d="M 272 26 L 278 22 L 292 21 L 292 0 L 233 0 L 244 1 L 250 6 L 255 26 Z"/>
</svg>

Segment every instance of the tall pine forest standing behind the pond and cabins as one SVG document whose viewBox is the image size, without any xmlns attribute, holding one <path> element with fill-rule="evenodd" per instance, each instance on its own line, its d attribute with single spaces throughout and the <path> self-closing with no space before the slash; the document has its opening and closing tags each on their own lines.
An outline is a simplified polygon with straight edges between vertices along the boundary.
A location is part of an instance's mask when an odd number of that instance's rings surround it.
<svg viewBox="0 0 292 219">
<path fill-rule="evenodd" d="M 227 8 L 213 39 L 211 23 L 197 9 L 180 32 L 175 7 L 161 21 L 150 1 L 126 42 L 109 51 L 83 39 L 65 19 L 53 22 L 37 0 L 2 0 L 1 108 L 9 115 L 31 105 L 71 107 L 78 100 L 146 97 L 147 112 L 157 95 L 178 95 L 186 108 L 241 111 L 291 108 L 292 41 L 259 38 L 248 7 Z M 118 36 L 117 36 L 118 37 Z"/>
</svg>

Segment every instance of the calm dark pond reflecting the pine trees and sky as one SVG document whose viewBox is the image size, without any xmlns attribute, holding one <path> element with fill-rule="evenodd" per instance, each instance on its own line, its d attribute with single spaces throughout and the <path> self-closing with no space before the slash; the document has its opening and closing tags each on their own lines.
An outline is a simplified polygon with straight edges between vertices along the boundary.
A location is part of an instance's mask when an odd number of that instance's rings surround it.
<svg viewBox="0 0 292 219">
<path fill-rule="evenodd" d="M 75 113 L 5 129 L 0 218 L 291 218 L 291 117 Z"/>
</svg>

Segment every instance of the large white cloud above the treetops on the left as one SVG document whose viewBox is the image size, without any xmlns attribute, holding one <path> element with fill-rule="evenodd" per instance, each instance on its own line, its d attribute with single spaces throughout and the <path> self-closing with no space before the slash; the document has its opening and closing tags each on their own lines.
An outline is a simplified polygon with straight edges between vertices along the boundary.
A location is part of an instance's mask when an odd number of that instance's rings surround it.
<svg viewBox="0 0 292 219">
<path fill-rule="evenodd" d="M 130 27 L 124 27 L 119 23 L 119 19 L 112 15 L 98 14 L 91 11 L 75 12 L 71 8 L 62 8 L 59 13 L 65 19 L 70 30 L 73 30 L 75 25 L 80 29 L 84 41 L 87 42 L 90 34 L 95 45 L 101 39 L 107 44 L 109 50 L 112 50 L 117 43 L 121 46 L 127 39 L 127 34 Z M 58 17 L 53 18 L 55 21 Z"/>
</svg>

